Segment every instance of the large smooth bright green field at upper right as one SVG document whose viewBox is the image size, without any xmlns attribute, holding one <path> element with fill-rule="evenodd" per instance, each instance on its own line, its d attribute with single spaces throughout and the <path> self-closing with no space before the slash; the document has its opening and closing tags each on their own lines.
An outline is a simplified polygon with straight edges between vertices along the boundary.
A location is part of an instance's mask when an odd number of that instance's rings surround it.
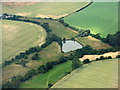
<svg viewBox="0 0 120 90">
<path fill-rule="evenodd" d="M 101 33 L 102 37 L 118 31 L 118 3 L 93 2 L 89 7 L 64 18 L 70 25 L 90 29 L 93 34 Z"/>
</svg>

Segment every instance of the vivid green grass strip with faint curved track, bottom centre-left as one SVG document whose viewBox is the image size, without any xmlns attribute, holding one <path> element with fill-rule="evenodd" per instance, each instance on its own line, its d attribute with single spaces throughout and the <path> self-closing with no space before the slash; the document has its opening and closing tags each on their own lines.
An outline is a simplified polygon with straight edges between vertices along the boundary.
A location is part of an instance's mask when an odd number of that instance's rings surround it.
<svg viewBox="0 0 120 90">
<path fill-rule="evenodd" d="M 21 84 L 21 88 L 47 88 L 48 84 L 55 83 L 65 75 L 65 72 L 71 70 L 71 61 L 55 66 L 45 74 L 36 75 L 25 83 Z"/>
</svg>

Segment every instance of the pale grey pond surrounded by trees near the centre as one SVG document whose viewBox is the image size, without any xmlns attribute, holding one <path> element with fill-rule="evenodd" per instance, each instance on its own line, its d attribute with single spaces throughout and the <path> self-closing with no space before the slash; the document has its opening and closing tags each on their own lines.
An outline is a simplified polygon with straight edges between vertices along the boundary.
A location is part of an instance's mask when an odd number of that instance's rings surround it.
<svg viewBox="0 0 120 90">
<path fill-rule="evenodd" d="M 83 46 L 78 43 L 77 41 L 73 40 L 66 40 L 65 42 L 62 42 L 62 51 L 63 52 L 70 52 L 77 49 L 81 49 Z"/>
</svg>

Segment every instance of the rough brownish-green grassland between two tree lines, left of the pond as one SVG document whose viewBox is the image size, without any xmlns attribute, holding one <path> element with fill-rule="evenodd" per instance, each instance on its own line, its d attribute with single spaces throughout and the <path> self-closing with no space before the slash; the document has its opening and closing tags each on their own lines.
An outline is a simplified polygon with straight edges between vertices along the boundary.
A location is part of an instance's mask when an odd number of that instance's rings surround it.
<svg viewBox="0 0 120 90">
<path fill-rule="evenodd" d="M 31 60 L 32 55 L 29 55 L 28 59 L 26 59 L 26 61 L 29 61 L 26 64 L 27 67 L 13 63 L 3 68 L 3 83 L 9 81 L 13 76 L 25 75 L 27 71 L 31 69 L 35 69 L 47 62 L 56 61 L 61 55 L 63 54 L 60 51 L 60 46 L 57 43 L 53 42 L 51 45 L 47 46 L 39 53 L 40 60 Z"/>
</svg>

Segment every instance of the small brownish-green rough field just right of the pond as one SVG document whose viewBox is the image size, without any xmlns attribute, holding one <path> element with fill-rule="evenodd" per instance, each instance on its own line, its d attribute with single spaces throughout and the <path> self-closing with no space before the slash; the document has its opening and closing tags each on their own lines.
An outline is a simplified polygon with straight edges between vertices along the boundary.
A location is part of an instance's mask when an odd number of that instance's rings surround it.
<svg viewBox="0 0 120 90">
<path fill-rule="evenodd" d="M 107 48 L 111 48 L 112 46 L 94 38 L 91 36 L 88 37 L 78 37 L 76 39 L 77 41 L 79 41 L 80 43 L 82 43 L 83 45 L 90 45 L 92 48 L 94 49 L 107 49 Z"/>
</svg>

